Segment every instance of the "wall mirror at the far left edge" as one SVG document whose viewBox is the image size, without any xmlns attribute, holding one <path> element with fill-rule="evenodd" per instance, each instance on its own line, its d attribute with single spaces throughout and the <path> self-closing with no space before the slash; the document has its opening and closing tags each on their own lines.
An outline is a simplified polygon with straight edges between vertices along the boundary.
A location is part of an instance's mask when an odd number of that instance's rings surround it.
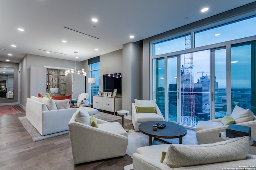
<svg viewBox="0 0 256 170">
<path fill-rule="evenodd" d="M 14 95 L 14 68 L 0 66 L 0 99 L 10 99 Z"/>
</svg>

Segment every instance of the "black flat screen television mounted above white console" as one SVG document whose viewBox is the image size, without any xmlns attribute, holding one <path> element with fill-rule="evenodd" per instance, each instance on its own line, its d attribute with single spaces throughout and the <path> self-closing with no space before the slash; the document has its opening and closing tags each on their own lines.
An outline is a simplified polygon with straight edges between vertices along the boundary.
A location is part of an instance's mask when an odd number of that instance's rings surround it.
<svg viewBox="0 0 256 170">
<path fill-rule="evenodd" d="M 122 76 L 121 73 L 104 74 L 103 75 L 103 91 L 114 92 L 117 89 L 117 93 L 122 94 Z"/>
</svg>

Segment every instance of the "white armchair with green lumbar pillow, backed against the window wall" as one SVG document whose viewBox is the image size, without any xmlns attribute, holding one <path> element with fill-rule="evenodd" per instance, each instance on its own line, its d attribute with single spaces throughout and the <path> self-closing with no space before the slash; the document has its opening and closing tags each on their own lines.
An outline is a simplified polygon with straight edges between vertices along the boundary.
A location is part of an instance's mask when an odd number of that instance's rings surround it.
<svg viewBox="0 0 256 170">
<path fill-rule="evenodd" d="M 138 100 L 135 99 L 135 101 L 138 101 Z M 154 100 L 150 100 L 150 101 L 149 100 L 144 100 L 144 101 L 145 102 L 152 102 Z M 140 100 L 140 102 L 143 102 L 143 100 Z M 146 105 L 144 105 L 143 107 L 146 107 Z M 147 122 L 147 121 L 165 121 L 159 107 L 157 106 L 157 104 L 155 104 L 155 107 L 156 107 L 156 113 L 137 113 L 136 105 L 135 105 L 135 103 L 132 103 L 132 124 L 133 124 L 133 127 L 134 127 L 135 131 L 139 131 L 139 125 L 140 125 L 140 123 L 143 123 L 143 122 Z"/>
</svg>

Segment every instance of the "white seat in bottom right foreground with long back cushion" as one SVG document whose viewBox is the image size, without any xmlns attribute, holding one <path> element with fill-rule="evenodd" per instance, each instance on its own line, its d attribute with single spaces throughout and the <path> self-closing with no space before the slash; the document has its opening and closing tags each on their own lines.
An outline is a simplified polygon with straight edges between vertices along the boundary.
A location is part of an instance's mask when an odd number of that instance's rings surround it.
<svg viewBox="0 0 256 170">
<path fill-rule="evenodd" d="M 133 168 L 134 170 L 255 168 L 256 155 L 248 154 L 248 149 L 249 137 L 203 145 L 152 145 L 137 149 L 132 157 Z M 165 158 L 161 158 L 163 151 L 166 152 Z"/>
</svg>

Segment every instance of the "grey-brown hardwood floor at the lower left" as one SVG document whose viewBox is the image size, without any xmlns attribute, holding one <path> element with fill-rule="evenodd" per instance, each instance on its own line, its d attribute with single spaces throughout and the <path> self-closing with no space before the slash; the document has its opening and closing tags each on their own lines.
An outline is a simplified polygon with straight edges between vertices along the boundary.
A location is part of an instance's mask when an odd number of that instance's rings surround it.
<svg viewBox="0 0 256 170">
<path fill-rule="evenodd" d="M 22 113 L 0 116 L 0 170 L 122 170 L 132 164 L 125 155 L 74 165 L 69 134 L 33 142 L 18 119 L 26 112 L 16 107 Z M 125 119 L 125 129 L 133 129 L 132 121 Z"/>
</svg>

